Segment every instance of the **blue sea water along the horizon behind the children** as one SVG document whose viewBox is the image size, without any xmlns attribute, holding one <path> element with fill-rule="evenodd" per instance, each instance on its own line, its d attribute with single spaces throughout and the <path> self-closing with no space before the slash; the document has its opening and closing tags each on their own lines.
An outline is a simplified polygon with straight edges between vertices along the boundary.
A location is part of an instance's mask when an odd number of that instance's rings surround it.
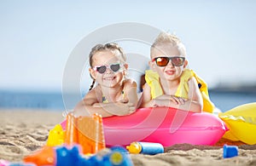
<svg viewBox="0 0 256 166">
<path fill-rule="evenodd" d="M 256 102 L 255 92 L 231 92 L 231 91 L 219 91 L 209 90 L 209 95 L 212 102 L 222 112 L 229 111 L 230 109 Z M 80 96 L 82 99 L 83 96 Z M 29 108 L 29 109 L 41 109 L 45 111 L 65 111 L 70 110 L 79 102 L 78 97 L 74 97 L 73 94 L 67 94 L 67 104 L 62 99 L 61 92 L 17 92 L 17 91 L 5 91 L 0 90 L 0 109 L 9 108 Z"/>
</svg>

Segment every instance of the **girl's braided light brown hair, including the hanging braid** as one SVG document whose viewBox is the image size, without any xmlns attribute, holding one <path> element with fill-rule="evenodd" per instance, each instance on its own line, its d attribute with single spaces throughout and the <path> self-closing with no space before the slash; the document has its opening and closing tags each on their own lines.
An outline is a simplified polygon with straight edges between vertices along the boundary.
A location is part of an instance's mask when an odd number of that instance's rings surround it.
<svg viewBox="0 0 256 166">
<path fill-rule="evenodd" d="M 89 54 L 90 67 L 92 67 L 93 55 L 101 51 L 111 51 L 116 56 L 119 56 L 119 60 L 121 60 L 123 63 L 126 62 L 126 56 L 124 54 L 124 51 L 121 47 L 119 47 L 117 43 L 97 44 L 95 47 L 93 47 L 90 50 L 90 54 Z M 89 90 L 91 90 L 94 87 L 95 82 L 96 80 L 93 79 L 93 82 L 91 83 Z"/>
</svg>

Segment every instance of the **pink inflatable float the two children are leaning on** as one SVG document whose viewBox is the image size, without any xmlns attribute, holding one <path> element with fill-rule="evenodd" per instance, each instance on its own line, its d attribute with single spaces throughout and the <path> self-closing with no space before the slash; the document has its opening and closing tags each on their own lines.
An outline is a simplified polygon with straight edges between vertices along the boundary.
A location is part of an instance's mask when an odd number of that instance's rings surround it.
<svg viewBox="0 0 256 166">
<path fill-rule="evenodd" d="M 227 130 L 211 113 L 187 112 L 175 108 L 140 108 L 124 117 L 104 117 L 107 146 L 126 146 L 132 141 L 158 142 L 163 146 L 189 143 L 214 145 Z"/>
</svg>

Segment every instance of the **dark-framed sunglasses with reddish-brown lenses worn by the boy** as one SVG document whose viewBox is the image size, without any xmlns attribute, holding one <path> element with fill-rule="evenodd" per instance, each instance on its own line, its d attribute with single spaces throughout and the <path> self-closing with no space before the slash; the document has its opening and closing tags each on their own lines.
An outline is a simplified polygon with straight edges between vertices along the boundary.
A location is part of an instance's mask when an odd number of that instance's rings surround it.
<svg viewBox="0 0 256 166">
<path fill-rule="evenodd" d="M 163 66 L 167 66 L 170 60 L 172 61 L 173 66 L 183 66 L 185 58 L 181 56 L 172 56 L 172 57 L 163 56 L 163 57 L 154 58 L 152 61 L 155 61 L 157 66 L 163 67 Z"/>
</svg>

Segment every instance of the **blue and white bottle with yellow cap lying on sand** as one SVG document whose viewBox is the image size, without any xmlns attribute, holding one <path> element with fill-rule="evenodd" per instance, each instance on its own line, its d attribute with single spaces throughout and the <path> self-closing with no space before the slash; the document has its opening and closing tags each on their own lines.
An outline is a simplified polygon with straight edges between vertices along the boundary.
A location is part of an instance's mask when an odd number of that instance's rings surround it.
<svg viewBox="0 0 256 166">
<path fill-rule="evenodd" d="M 164 146 L 152 142 L 132 142 L 126 149 L 131 153 L 158 154 L 164 152 Z"/>
</svg>

